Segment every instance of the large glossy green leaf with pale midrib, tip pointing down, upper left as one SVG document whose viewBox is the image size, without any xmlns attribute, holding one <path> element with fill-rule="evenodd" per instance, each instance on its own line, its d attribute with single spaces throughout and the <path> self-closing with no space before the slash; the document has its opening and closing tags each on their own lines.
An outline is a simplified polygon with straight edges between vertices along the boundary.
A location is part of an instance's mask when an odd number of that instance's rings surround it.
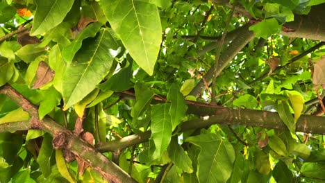
<svg viewBox="0 0 325 183">
<path fill-rule="evenodd" d="M 76 60 L 67 65 L 63 75 L 65 110 L 94 90 L 108 74 L 119 53 L 119 44 L 108 29 L 102 29 L 97 37 L 84 43 L 76 53 Z"/>
</svg>

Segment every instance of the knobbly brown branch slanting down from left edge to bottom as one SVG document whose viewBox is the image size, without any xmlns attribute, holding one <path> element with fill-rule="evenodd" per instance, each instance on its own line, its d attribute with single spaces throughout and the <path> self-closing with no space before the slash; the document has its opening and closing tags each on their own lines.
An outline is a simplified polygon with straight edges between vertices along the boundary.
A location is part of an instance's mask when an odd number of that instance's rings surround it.
<svg viewBox="0 0 325 183">
<path fill-rule="evenodd" d="M 72 132 L 59 125 L 49 116 L 45 116 L 43 120 L 38 119 L 38 108 L 29 102 L 22 94 L 19 94 L 10 85 L 0 87 L 0 92 L 12 99 L 17 105 L 22 107 L 29 115 L 31 115 L 32 128 L 42 129 L 51 134 L 54 139 L 63 136 L 66 144 L 65 148 L 70 150 L 74 155 L 81 157 L 85 162 L 98 171 L 106 180 L 110 182 L 135 182 L 122 168 L 119 168 L 110 159 L 95 150 L 89 143 L 83 141 Z"/>
</svg>

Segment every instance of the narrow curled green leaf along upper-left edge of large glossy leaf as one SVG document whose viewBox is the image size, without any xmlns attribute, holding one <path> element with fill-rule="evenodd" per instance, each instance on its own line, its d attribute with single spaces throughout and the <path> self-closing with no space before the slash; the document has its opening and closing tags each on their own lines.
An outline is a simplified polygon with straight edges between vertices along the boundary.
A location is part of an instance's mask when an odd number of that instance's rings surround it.
<svg viewBox="0 0 325 183">
<path fill-rule="evenodd" d="M 88 37 L 95 37 L 100 28 L 101 24 L 98 22 L 86 26 L 85 29 L 83 29 L 81 33 L 77 35 L 76 40 L 72 41 L 71 44 L 63 48 L 63 59 L 68 63 L 72 62 L 74 55 L 76 55 L 76 52 L 81 48 L 83 40 Z"/>
</svg>

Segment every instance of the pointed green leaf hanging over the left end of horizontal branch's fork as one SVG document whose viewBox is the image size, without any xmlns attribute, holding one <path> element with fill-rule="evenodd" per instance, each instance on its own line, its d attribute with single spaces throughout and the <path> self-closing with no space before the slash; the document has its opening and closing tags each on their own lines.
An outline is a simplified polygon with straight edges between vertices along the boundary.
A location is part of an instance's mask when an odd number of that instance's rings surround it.
<svg viewBox="0 0 325 183">
<path fill-rule="evenodd" d="M 167 100 L 172 102 L 170 105 L 169 114 L 172 116 L 172 130 L 174 130 L 185 117 L 186 111 L 188 110 L 188 105 L 185 104 L 184 96 L 181 94 L 181 92 L 179 92 L 176 85 L 172 85 L 172 87 L 170 87 Z"/>
</svg>

